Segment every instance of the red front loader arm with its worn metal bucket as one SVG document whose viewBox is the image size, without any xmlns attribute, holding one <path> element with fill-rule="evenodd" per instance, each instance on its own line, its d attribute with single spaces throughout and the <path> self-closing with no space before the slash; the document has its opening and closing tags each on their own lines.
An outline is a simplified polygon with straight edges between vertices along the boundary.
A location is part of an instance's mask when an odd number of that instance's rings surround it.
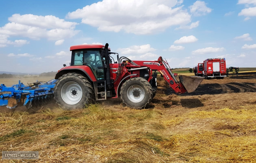
<svg viewBox="0 0 256 163">
<path fill-rule="evenodd" d="M 157 70 L 162 75 L 164 80 L 170 85 L 170 87 L 176 93 L 193 92 L 203 81 L 202 77 L 190 77 L 179 75 L 180 81 L 178 81 L 173 72 L 171 71 L 167 62 L 162 57 L 159 57 L 157 61 L 134 61 L 135 63 L 149 67 L 149 69 Z"/>
</svg>

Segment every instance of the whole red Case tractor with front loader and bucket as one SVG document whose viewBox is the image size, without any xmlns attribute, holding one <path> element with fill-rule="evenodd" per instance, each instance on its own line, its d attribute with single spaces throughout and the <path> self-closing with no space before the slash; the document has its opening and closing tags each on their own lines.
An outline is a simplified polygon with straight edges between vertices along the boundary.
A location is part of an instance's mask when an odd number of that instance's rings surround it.
<svg viewBox="0 0 256 163">
<path fill-rule="evenodd" d="M 193 92 L 202 77 L 180 75 L 178 81 L 162 57 L 157 61 L 132 61 L 110 52 L 108 44 L 76 45 L 70 66 L 55 76 L 54 98 L 63 109 L 83 108 L 94 100 L 120 97 L 128 107 L 145 108 L 157 91 L 157 72 L 177 93 Z M 117 56 L 114 60 L 113 55 Z M 168 66 L 167 66 L 168 65 Z M 152 70 L 155 70 L 154 72 Z"/>
</svg>

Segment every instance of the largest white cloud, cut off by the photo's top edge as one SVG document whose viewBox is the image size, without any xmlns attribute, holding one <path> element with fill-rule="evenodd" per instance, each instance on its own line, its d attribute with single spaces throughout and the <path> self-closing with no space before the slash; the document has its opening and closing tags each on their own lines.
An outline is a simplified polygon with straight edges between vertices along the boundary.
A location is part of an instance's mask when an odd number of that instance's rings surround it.
<svg viewBox="0 0 256 163">
<path fill-rule="evenodd" d="M 191 22 L 191 15 L 187 10 L 183 10 L 183 6 L 176 6 L 182 2 L 183 0 L 103 0 L 69 12 L 67 18 L 80 18 L 82 23 L 96 27 L 99 31 L 151 34 Z"/>
</svg>

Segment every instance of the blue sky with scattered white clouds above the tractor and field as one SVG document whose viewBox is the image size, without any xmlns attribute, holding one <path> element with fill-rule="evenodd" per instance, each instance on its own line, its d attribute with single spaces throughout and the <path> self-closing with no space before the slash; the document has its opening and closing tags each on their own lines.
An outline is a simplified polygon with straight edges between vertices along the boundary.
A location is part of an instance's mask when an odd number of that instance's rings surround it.
<svg viewBox="0 0 256 163">
<path fill-rule="evenodd" d="M 256 67 L 256 0 L 11 0 L 0 5 L 0 71 L 58 71 L 70 46 L 109 44 L 171 68 L 207 58 Z"/>
</svg>

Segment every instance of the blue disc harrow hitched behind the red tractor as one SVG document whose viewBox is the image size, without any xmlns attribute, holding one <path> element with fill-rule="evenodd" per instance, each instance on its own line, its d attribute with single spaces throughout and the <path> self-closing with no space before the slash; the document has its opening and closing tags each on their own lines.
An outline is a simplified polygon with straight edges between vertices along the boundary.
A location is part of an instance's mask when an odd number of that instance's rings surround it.
<svg viewBox="0 0 256 163">
<path fill-rule="evenodd" d="M 27 109 L 43 106 L 49 102 L 54 102 L 54 86 L 57 80 L 48 82 L 38 82 L 27 86 L 20 82 L 11 87 L 4 84 L 0 86 L 0 106 L 7 106 L 13 109 L 24 105 Z"/>
</svg>

